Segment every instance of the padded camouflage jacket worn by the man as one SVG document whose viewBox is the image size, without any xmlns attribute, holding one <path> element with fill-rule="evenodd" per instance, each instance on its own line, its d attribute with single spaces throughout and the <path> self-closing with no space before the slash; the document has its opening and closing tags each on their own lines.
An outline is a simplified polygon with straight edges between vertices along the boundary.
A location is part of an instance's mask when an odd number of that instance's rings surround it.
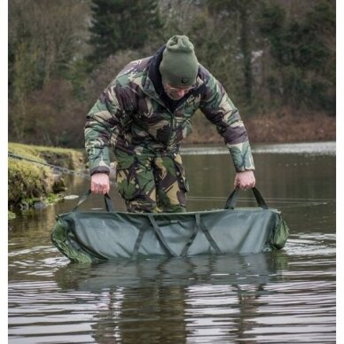
<svg viewBox="0 0 344 344">
<path fill-rule="evenodd" d="M 163 90 L 159 64 L 164 46 L 152 57 L 130 62 L 87 114 L 85 147 L 90 174 L 109 172 L 109 147 L 136 154 L 177 152 L 200 110 L 215 124 L 237 171 L 254 169 L 246 129 L 223 86 L 204 66 L 194 88 L 178 101 Z"/>
</svg>

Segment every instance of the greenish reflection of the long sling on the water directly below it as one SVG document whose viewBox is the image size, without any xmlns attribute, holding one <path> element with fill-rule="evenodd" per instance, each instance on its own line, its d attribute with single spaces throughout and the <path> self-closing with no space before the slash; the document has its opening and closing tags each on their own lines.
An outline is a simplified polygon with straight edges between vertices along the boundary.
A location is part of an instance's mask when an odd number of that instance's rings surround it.
<svg viewBox="0 0 344 344">
<path fill-rule="evenodd" d="M 202 255 L 137 262 L 121 260 L 94 266 L 71 263 L 57 270 L 55 278 L 62 289 L 75 287 L 98 292 L 105 288 L 194 285 L 199 282 L 265 284 L 269 280 L 277 281 L 277 271 L 285 264 L 287 256 L 283 253 Z"/>
</svg>

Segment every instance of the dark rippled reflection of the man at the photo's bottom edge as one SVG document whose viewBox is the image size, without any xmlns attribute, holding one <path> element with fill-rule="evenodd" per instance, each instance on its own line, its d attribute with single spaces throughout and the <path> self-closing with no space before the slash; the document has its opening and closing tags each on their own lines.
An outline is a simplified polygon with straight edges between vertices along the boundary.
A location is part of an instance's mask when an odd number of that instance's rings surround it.
<svg viewBox="0 0 344 344">
<path fill-rule="evenodd" d="M 185 298 L 177 285 L 110 290 L 97 306 L 91 335 L 98 344 L 185 343 Z"/>
</svg>

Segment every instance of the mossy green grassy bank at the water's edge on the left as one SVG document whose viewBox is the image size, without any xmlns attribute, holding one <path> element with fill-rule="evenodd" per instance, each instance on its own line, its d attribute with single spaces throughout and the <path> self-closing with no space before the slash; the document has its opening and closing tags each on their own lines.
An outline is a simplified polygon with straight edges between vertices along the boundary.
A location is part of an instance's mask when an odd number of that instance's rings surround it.
<svg viewBox="0 0 344 344">
<path fill-rule="evenodd" d="M 73 149 L 20 145 L 10 143 L 8 151 L 69 169 L 84 168 L 82 152 Z M 37 202 L 49 203 L 59 198 L 65 188 L 63 176 L 56 176 L 51 168 L 27 160 L 8 160 L 8 206 L 11 210 L 33 207 Z"/>
</svg>

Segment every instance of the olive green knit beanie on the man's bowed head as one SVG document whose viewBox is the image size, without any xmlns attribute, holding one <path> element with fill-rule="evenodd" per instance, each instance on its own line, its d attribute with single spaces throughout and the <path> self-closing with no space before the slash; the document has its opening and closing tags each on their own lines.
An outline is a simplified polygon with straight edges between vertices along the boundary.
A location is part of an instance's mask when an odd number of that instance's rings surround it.
<svg viewBox="0 0 344 344">
<path fill-rule="evenodd" d="M 168 40 L 159 69 L 162 82 L 170 86 L 192 86 L 196 82 L 199 63 L 186 35 Z"/>
</svg>

